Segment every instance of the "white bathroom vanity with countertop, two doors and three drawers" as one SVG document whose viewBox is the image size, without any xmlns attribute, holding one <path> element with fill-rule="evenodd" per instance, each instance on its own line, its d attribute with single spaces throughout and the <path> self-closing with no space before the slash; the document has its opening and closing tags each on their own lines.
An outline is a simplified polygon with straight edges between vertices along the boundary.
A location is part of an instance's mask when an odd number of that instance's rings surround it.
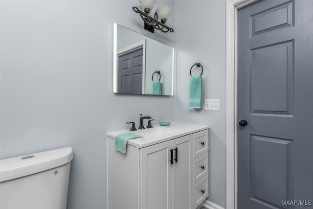
<svg viewBox="0 0 313 209">
<path fill-rule="evenodd" d="M 108 209 L 196 209 L 208 197 L 209 127 L 172 122 L 133 131 L 125 154 L 121 130 L 107 133 Z"/>
</svg>

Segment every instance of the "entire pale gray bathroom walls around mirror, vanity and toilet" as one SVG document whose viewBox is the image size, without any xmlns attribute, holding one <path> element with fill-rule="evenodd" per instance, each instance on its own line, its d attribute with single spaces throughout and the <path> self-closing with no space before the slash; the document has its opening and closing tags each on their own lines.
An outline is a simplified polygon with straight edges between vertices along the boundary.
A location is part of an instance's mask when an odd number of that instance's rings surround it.
<svg viewBox="0 0 313 209">
<path fill-rule="evenodd" d="M 208 199 L 225 206 L 225 2 L 161 4 L 174 33 L 144 31 L 137 0 L 0 1 L 0 158 L 71 146 L 68 209 L 106 208 L 106 132 L 138 126 L 139 114 L 211 126 Z M 114 22 L 177 47 L 174 97 L 109 91 Z M 188 110 L 195 62 L 220 112 Z"/>
</svg>

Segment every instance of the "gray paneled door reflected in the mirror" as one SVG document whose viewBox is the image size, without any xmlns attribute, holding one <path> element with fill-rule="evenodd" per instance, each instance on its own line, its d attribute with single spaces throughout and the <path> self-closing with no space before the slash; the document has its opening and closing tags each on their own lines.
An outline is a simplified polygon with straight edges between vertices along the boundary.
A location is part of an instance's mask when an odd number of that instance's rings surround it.
<svg viewBox="0 0 313 209">
<path fill-rule="evenodd" d="M 118 56 L 118 93 L 142 93 L 143 48 Z"/>
</svg>

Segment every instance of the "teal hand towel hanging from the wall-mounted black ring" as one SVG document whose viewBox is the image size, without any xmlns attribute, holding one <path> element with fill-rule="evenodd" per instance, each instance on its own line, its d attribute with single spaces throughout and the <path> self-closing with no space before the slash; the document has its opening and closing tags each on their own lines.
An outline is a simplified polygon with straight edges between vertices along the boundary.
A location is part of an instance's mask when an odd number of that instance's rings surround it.
<svg viewBox="0 0 313 209">
<path fill-rule="evenodd" d="M 188 107 L 190 109 L 201 109 L 203 107 L 203 90 L 201 75 L 191 76 Z"/>
</svg>

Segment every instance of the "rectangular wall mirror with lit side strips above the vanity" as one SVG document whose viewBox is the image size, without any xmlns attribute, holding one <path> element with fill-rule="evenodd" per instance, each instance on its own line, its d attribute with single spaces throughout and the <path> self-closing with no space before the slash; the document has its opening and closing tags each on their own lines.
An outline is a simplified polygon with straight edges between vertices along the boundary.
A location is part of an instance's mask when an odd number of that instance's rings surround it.
<svg viewBox="0 0 313 209">
<path fill-rule="evenodd" d="M 113 93 L 173 95 L 174 48 L 113 24 Z"/>
</svg>

